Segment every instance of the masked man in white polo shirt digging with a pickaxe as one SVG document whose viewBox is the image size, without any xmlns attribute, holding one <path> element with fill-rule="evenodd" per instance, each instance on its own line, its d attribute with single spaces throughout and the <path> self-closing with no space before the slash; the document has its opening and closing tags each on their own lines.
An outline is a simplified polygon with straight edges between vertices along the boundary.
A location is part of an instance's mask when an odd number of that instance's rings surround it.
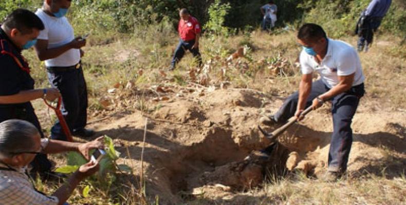
<svg viewBox="0 0 406 205">
<path fill-rule="evenodd" d="M 333 107 L 333 135 L 328 154 L 328 170 L 323 176 L 334 181 L 347 169 L 353 142 L 351 122 L 364 95 L 364 75 L 357 51 L 341 40 L 329 39 L 323 28 L 305 24 L 299 29 L 298 43 L 302 80 L 299 92 L 290 95 L 274 115 L 261 118 L 266 125 L 282 124 L 290 117 L 300 117 L 306 107 L 319 108 L 327 100 Z M 312 81 L 313 71 L 321 78 Z"/>
</svg>

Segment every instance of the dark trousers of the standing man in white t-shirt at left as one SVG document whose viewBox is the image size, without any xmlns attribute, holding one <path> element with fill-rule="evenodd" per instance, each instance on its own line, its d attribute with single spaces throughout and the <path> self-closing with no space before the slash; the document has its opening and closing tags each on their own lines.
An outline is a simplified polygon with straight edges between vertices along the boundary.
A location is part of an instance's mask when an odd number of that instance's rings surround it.
<svg viewBox="0 0 406 205">
<path fill-rule="evenodd" d="M 54 67 L 53 67 L 54 68 Z M 48 80 L 62 95 L 62 115 L 70 132 L 84 129 L 87 123 L 87 88 L 82 67 L 66 71 L 48 70 Z M 56 72 L 55 72 L 56 71 Z M 51 138 L 67 140 L 59 120 L 51 128 Z"/>
</svg>

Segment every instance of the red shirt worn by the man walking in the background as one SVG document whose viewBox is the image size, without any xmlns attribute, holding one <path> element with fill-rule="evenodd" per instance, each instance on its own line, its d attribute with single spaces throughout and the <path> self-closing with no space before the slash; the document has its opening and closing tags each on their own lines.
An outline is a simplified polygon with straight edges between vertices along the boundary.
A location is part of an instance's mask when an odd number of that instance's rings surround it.
<svg viewBox="0 0 406 205">
<path fill-rule="evenodd" d="M 188 21 L 180 19 L 178 32 L 182 40 L 194 40 L 196 38 L 196 34 L 201 32 L 200 24 L 193 16 L 190 16 Z"/>
</svg>

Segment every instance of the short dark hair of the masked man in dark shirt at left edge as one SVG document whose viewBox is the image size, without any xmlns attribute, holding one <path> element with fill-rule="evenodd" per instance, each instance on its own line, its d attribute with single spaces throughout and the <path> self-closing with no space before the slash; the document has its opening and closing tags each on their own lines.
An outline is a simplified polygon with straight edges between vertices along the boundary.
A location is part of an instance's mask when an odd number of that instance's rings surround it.
<svg viewBox="0 0 406 205">
<path fill-rule="evenodd" d="M 7 29 L 16 28 L 23 34 L 29 34 L 32 29 L 44 30 L 41 18 L 27 9 L 16 9 L 7 16 L 3 25 Z"/>
</svg>

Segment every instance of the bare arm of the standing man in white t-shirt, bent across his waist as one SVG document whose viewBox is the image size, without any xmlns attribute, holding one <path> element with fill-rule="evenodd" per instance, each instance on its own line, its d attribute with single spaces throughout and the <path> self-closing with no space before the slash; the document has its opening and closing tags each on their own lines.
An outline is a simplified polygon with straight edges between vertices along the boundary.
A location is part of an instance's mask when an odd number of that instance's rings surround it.
<svg viewBox="0 0 406 205">
<path fill-rule="evenodd" d="M 84 46 L 86 46 L 86 40 L 82 37 L 77 37 L 63 46 L 51 49 L 48 49 L 48 40 L 38 39 L 37 43 L 35 44 L 35 51 L 38 58 L 43 61 L 56 58 L 70 49 L 80 49 Z"/>
</svg>

